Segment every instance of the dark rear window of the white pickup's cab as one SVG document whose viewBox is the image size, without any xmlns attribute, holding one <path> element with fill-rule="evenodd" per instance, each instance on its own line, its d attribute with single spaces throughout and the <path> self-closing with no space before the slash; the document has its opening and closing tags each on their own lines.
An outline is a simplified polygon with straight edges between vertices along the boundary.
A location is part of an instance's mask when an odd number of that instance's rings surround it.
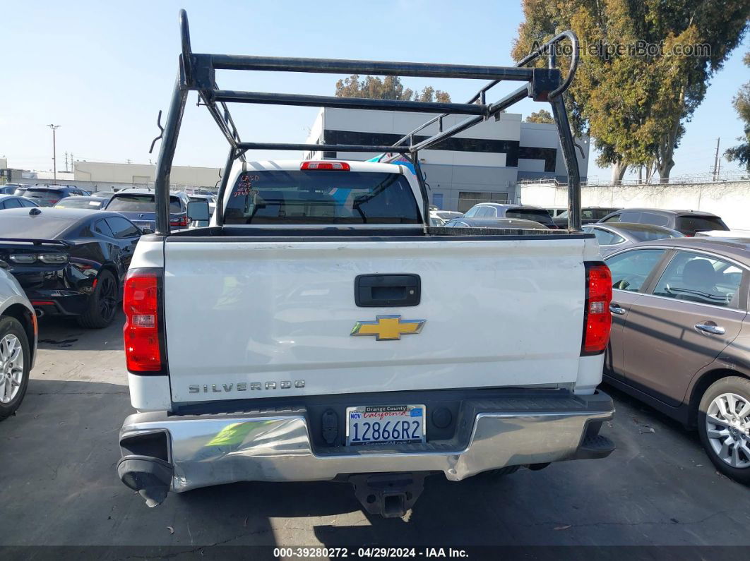
<svg viewBox="0 0 750 561">
<path fill-rule="evenodd" d="M 419 224 L 403 175 L 331 170 L 241 173 L 224 224 Z"/>
</svg>

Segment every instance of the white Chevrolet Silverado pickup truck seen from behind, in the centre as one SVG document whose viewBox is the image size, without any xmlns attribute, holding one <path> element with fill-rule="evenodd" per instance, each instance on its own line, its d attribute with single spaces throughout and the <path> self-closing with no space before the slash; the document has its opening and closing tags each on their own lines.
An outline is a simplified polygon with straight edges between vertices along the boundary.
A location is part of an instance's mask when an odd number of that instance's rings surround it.
<svg viewBox="0 0 750 561">
<path fill-rule="evenodd" d="M 190 83 L 175 88 L 167 175 Z M 613 404 L 596 389 L 611 280 L 592 235 L 429 228 L 416 159 L 238 154 L 208 228 L 169 232 L 160 191 L 125 281 L 137 412 L 118 475 L 149 506 L 208 485 L 338 480 L 398 516 L 429 474 L 612 451 L 598 433 Z"/>
</svg>

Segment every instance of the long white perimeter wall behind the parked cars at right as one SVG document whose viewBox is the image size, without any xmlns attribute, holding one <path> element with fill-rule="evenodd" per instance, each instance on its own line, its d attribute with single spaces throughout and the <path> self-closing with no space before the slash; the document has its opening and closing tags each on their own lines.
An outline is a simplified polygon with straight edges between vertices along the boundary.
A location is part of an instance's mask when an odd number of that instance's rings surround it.
<svg viewBox="0 0 750 561">
<path fill-rule="evenodd" d="M 750 229 L 750 181 L 704 184 L 601 185 L 582 187 L 584 207 L 651 207 L 675 210 L 706 210 L 721 216 L 733 229 Z M 523 204 L 567 207 L 564 185 L 520 186 Z"/>
</svg>

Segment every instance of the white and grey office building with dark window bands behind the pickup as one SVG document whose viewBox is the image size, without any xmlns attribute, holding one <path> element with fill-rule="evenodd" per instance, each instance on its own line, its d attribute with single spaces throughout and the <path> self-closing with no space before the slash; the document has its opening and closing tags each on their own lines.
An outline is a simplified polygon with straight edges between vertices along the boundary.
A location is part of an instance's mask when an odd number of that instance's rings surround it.
<svg viewBox="0 0 750 561">
<path fill-rule="evenodd" d="M 362 109 L 321 109 L 310 144 L 392 145 L 435 115 Z M 466 118 L 443 119 L 443 129 Z M 438 132 L 437 123 L 419 131 L 415 142 Z M 581 181 L 586 181 L 589 139 L 576 139 Z M 311 152 L 308 159 L 368 160 L 377 154 Z M 521 115 L 501 113 L 430 150 L 419 152 L 431 204 L 465 212 L 481 201 L 517 202 L 518 181 L 556 178 L 568 181 L 554 124 L 525 123 Z"/>
</svg>

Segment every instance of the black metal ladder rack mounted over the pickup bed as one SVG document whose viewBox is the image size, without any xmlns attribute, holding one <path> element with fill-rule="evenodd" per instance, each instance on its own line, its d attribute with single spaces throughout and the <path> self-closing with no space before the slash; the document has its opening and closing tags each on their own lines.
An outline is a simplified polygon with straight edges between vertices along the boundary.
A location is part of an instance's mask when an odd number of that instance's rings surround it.
<svg viewBox="0 0 750 561">
<path fill-rule="evenodd" d="M 184 114 L 187 94 L 198 92 L 199 100 L 205 105 L 211 117 L 229 142 L 229 156 L 222 175 L 219 201 L 222 200 L 229 172 L 235 160 L 245 160 L 248 150 L 292 150 L 292 151 L 341 151 L 341 152 L 383 152 L 392 154 L 383 158 L 389 162 L 398 157 L 406 157 L 413 163 L 422 190 L 425 224 L 429 225 L 429 204 L 425 183 L 419 167 L 420 150 L 454 136 L 475 124 L 489 118 L 499 118 L 499 113 L 526 97 L 535 101 L 550 103 L 557 125 L 565 168 L 568 171 L 568 230 L 580 231 L 580 174 L 574 154 L 573 136 L 565 110 L 563 92 L 568 89 L 578 64 L 578 40 L 572 31 L 563 31 L 544 45 L 529 53 L 515 66 L 473 66 L 466 64 L 430 64 L 424 62 L 353 61 L 332 58 L 286 58 L 245 55 L 217 55 L 194 53 L 190 47 L 190 28 L 187 25 L 187 12 L 180 10 L 180 31 L 182 51 L 179 73 L 169 103 L 166 127 L 159 149 L 154 189 L 156 192 L 156 234 L 169 234 L 169 174 L 175 155 L 175 146 Z M 562 73 L 556 67 L 555 47 L 563 40 L 571 42 L 571 64 L 568 75 L 562 80 Z M 542 55 L 547 55 L 547 67 L 527 67 Z M 435 103 L 406 100 L 371 100 L 356 97 L 331 97 L 320 95 L 278 94 L 259 91 L 230 91 L 218 88 L 216 70 L 261 70 L 274 72 L 344 73 L 375 74 L 378 76 L 421 76 L 429 78 L 488 79 L 487 82 L 466 103 Z M 486 102 L 486 93 L 499 82 L 524 82 L 495 103 Z M 279 142 L 242 142 L 237 127 L 229 114 L 228 103 L 261 103 L 272 105 L 343 107 L 348 109 L 381 109 L 386 111 L 416 111 L 438 113 L 415 130 L 403 136 L 394 145 L 320 145 L 287 144 Z M 468 115 L 453 127 L 443 129 L 443 118 L 448 115 Z M 438 124 L 438 132 L 428 139 L 414 143 L 414 136 L 431 124 Z M 223 205 L 217 204 L 217 223 L 223 224 Z"/>
</svg>

